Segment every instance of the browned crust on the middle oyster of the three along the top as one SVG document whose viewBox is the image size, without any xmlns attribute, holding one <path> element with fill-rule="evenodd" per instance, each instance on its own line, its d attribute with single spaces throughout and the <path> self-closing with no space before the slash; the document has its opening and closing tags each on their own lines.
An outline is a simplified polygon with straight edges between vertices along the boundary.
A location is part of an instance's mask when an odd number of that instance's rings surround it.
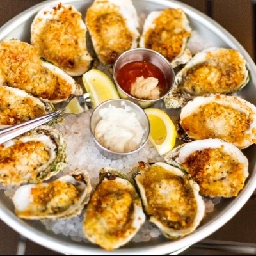
<svg viewBox="0 0 256 256">
<path fill-rule="evenodd" d="M 131 49 L 133 33 L 127 28 L 120 8 L 107 1 L 92 5 L 86 12 L 86 26 L 92 36 L 93 47 L 104 65 L 113 65 L 123 52 Z"/>
</svg>

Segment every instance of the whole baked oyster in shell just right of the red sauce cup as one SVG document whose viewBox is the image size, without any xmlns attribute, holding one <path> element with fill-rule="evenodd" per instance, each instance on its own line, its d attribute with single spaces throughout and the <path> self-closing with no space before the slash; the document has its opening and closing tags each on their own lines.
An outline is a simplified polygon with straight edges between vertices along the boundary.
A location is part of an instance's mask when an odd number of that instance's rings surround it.
<svg viewBox="0 0 256 256">
<path fill-rule="evenodd" d="M 164 104 L 166 108 L 179 108 L 196 96 L 231 95 L 241 90 L 249 79 L 246 60 L 239 51 L 209 47 L 195 54 L 177 73 Z"/>
</svg>

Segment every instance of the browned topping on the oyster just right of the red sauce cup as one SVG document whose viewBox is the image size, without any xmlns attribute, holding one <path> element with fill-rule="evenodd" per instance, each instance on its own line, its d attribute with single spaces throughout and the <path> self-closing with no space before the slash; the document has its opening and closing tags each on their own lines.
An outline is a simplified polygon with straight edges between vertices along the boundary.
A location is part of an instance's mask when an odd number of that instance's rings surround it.
<svg viewBox="0 0 256 256">
<path fill-rule="evenodd" d="M 237 92 L 246 81 L 245 70 L 245 60 L 235 49 L 205 52 L 205 60 L 189 68 L 179 86 L 191 95 Z"/>
</svg>

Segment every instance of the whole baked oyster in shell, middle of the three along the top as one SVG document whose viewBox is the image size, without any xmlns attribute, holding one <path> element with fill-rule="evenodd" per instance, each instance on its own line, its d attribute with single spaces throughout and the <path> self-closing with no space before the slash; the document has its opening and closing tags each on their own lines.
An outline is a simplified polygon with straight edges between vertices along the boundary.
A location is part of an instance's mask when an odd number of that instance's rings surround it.
<svg viewBox="0 0 256 256">
<path fill-rule="evenodd" d="M 85 22 L 103 65 L 112 67 L 118 56 L 137 47 L 139 22 L 131 0 L 95 0 L 87 9 Z"/>
</svg>

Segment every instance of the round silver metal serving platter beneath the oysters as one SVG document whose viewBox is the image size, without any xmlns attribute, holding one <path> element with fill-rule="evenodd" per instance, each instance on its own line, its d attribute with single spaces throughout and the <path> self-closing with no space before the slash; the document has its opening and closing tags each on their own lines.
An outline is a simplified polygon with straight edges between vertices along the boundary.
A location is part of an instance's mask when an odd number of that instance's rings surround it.
<svg viewBox="0 0 256 256">
<path fill-rule="evenodd" d="M 247 67 L 250 72 L 250 83 L 246 85 L 241 92 L 237 93 L 243 99 L 246 99 L 253 104 L 256 104 L 256 98 L 253 97 L 256 93 L 256 66 L 250 58 L 248 52 L 242 47 L 237 40 L 223 29 L 218 23 L 210 19 L 204 13 L 191 8 L 190 6 L 180 3 L 179 1 L 164 1 L 164 0 L 133 0 L 137 10 L 138 17 L 141 20 L 152 10 L 161 10 L 163 8 L 182 8 L 190 21 L 191 28 L 195 32 L 191 47 L 197 47 L 197 51 L 202 44 L 212 45 L 216 47 L 230 47 L 239 50 L 247 61 Z M 25 42 L 29 42 L 30 26 L 36 13 L 45 6 L 58 4 L 60 1 L 44 1 L 29 8 L 25 12 L 20 13 L 12 20 L 4 24 L 0 28 L 0 40 L 4 38 L 17 38 Z M 92 0 L 63 0 L 63 4 L 72 4 L 79 10 L 84 19 L 86 9 Z M 191 38 L 191 39 L 192 39 Z M 193 45 L 192 45 L 193 44 Z M 179 110 L 164 109 L 175 121 L 179 115 Z M 14 230 L 28 237 L 35 243 L 41 244 L 51 250 L 64 254 L 90 254 L 90 255 L 120 255 L 120 254 L 179 254 L 191 244 L 197 243 L 205 237 L 222 227 L 229 221 L 247 202 L 256 188 L 256 168 L 255 168 L 255 152 L 256 145 L 252 145 L 243 150 L 249 160 L 249 177 L 246 179 L 246 184 L 243 190 L 236 198 L 221 199 L 219 204 L 214 206 L 214 211 L 205 216 L 204 220 L 195 232 L 177 240 L 168 240 L 163 236 L 150 239 L 148 242 L 127 243 L 122 248 L 108 252 L 99 248 L 92 243 L 78 242 L 70 239 L 63 234 L 54 234 L 51 230 L 47 230 L 45 225 L 36 220 L 22 220 L 15 216 L 13 204 L 10 198 L 4 194 L 4 190 L 0 190 L 0 218 Z"/>
</svg>

